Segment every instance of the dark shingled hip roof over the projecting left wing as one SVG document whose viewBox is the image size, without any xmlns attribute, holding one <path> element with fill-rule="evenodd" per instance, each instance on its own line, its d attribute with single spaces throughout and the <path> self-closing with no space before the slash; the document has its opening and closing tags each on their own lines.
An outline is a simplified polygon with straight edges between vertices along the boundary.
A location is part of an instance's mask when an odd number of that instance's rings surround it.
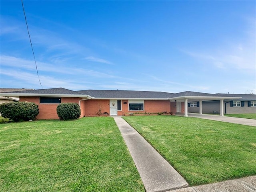
<svg viewBox="0 0 256 192">
<path fill-rule="evenodd" d="M 37 89 L 37 90 L 25 90 L 14 91 L 11 93 L 31 93 L 31 94 L 67 94 L 67 95 L 80 95 L 81 93 L 64 88 L 52 88 L 52 89 Z"/>
</svg>

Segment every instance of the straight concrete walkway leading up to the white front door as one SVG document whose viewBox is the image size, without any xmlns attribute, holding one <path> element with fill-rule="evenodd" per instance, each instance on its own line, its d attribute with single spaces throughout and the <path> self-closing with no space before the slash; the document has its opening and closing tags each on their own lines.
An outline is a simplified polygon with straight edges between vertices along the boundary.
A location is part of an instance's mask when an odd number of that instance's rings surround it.
<svg viewBox="0 0 256 192">
<path fill-rule="evenodd" d="M 138 169 L 146 192 L 188 187 L 178 172 L 121 116 L 114 120 Z"/>
</svg>

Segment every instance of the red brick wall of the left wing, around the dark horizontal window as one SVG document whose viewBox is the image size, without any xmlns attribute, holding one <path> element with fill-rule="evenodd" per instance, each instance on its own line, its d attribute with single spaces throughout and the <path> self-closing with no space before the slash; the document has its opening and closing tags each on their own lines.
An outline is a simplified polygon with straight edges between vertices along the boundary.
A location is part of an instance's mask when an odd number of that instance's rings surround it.
<svg viewBox="0 0 256 192">
<path fill-rule="evenodd" d="M 79 104 L 80 98 L 62 97 L 62 103 L 77 103 Z M 37 119 L 59 119 L 56 108 L 58 104 L 40 104 L 39 97 L 20 97 L 20 101 L 34 102 L 38 105 L 39 114 Z"/>
</svg>

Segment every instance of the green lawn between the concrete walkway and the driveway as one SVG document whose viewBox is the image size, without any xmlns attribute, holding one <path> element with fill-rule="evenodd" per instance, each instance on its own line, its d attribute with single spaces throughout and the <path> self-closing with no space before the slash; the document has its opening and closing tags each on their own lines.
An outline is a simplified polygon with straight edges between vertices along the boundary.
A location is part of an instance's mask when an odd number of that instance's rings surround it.
<svg viewBox="0 0 256 192">
<path fill-rule="evenodd" d="M 256 127 L 178 116 L 124 120 L 192 186 L 256 175 Z"/>
</svg>

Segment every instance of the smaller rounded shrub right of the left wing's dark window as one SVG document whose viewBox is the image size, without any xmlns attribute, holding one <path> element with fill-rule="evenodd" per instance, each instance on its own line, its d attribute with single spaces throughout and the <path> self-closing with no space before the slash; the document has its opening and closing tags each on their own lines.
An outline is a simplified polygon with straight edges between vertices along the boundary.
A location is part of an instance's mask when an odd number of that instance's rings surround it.
<svg viewBox="0 0 256 192">
<path fill-rule="evenodd" d="M 75 120 L 80 117 L 81 110 L 77 103 L 61 103 L 57 106 L 57 114 L 62 120 Z"/>
</svg>

